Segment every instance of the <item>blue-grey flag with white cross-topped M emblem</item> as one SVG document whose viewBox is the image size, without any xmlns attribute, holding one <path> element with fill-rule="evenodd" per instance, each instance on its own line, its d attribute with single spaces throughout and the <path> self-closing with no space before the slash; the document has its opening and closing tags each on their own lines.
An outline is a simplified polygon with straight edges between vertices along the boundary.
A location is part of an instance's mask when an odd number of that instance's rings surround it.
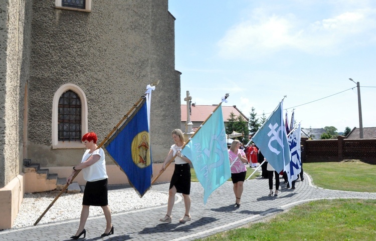
<svg viewBox="0 0 376 241">
<path fill-rule="evenodd" d="M 281 101 L 277 109 L 252 137 L 253 142 L 277 172 L 281 172 L 291 160 L 286 128 L 283 123 L 282 103 Z"/>
</svg>

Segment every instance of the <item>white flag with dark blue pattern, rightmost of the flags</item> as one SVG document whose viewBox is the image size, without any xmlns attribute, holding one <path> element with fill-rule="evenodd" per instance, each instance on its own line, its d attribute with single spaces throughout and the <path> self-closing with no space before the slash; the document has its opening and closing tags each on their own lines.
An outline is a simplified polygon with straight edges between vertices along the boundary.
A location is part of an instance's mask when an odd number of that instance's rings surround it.
<svg viewBox="0 0 376 241">
<path fill-rule="evenodd" d="M 300 156 L 300 123 L 288 137 L 288 142 L 291 152 L 291 160 L 285 167 L 285 171 L 287 172 L 288 182 L 290 186 L 292 186 L 291 181 L 298 179 L 302 167 Z"/>
</svg>

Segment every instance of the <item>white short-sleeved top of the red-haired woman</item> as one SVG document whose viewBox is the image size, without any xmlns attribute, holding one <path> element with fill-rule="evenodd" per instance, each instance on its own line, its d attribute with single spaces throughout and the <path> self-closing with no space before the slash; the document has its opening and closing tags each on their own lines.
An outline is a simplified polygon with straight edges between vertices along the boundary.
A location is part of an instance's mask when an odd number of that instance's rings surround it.
<svg viewBox="0 0 376 241">
<path fill-rule="evenodd" d="M 106 173 L 106 161 L 104 160 L 104 151 L 102 148 L 96 149 L 93 153 L 89 153 L 90 149 L 87 149 L 82 156 L 81 163 L 86 161 L 91 154 L 99 155 L 100 158 L 93 165 L 82 169 L 82 174 L 86 181 L 99 181 L 108 178 Z"/>
</svg>

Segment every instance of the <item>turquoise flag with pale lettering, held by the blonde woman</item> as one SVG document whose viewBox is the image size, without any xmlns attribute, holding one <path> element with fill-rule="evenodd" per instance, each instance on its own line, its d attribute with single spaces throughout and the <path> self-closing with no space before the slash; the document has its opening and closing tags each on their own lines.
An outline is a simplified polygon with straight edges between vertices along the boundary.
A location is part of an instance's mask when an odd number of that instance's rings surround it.
<svg viewBox="0 0 376 241">
<path fill-rule="evenodd" d="M 192 161 L 204 187 L 204 204 L 210 194 L 231 177 L 222 106 L 220 106 L 181 151 Z"/>
</svg>

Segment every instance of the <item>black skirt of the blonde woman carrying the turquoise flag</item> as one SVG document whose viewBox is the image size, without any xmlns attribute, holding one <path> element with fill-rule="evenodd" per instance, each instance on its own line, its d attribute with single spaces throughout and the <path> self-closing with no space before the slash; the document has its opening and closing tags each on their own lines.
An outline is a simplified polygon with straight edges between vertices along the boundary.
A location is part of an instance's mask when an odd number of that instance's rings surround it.
<svg viewBox="0 0 376 241">
<path fill-rule="evenodd" d="M 191 193 L 191 166 L 189 163 L 175 164 L 169 189 L 173 186 L 178 193 L 186 195 Z"/>
</svg>

